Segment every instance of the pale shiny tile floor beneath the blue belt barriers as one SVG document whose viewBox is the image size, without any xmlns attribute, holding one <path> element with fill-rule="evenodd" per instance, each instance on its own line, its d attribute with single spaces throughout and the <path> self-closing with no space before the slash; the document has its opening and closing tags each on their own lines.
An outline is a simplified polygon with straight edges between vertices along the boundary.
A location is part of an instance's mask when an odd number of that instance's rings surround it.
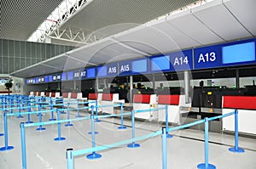
<svg viewBox="0 0 256 169">
<path fill-rule="evenodd" d="M 75 112 L 73 112 L 75 114 Z M 3 132 L 3 115 L 0 114 L 0 132 Z M 89 115 L 83 113 L 82 115 Z M 67 115 L 61 115 L 67 118 Z M 72 118 L 74 115 L 72 115 Z M 47 121 L 49 115 L 44 115 Z M 32 116 L 33 121 L 38 121 L 38 116 Z M 9 145 L 15 149 L 0 152 L 0 169 L 19 169 L 21 166 L 20 148 L 20 121 L 9 117 Z M 131 138 L 131 127 L 119 130 L 119 119 L 102 119 L 96 123 L 96 145 L 112 144 Z M 87 149 L 91 146 L 90 121 L 73 122 L 73 127 L 61 125 L 61 135 L 65 141 L 55 142 L 57 137 L 56 125 L 45 126 L 46 130 L 38 132 L 36 127 L 26 128 L 26 161 L 28 169 L 66 169 L 66 149 Z M 125 120 L 125 125 L 131 126 L 131 121 Z M 161 129 L 160 124 L 151 121 L 136 121 L 136 136 L 142 136 Z M 180 130 L 172 133 L 173 138 L 168 143 L 168 168 L 192 169 L 204 162 L 204 132 L 197 130 Z M 234 154 L 228 151 L 234 145 L 234 137 L 220 133 L 209 133 L 209 162 L 218 169 L 256 168 L 256 139 L 241 138 L 239 144 L 245 149 L 243 154 Z M 76 169 L 160 169 L 161 166 L 161 136 L 148 138 L 139 142 L 140 148 L 129 149 L 125 145 L 114 149 L 98 152 L 101 159 L 88 160 L 84 156 L 75 157 Z M 4 146 L 4 137 L 0 137 L 0 147 Z"/>
</svg>

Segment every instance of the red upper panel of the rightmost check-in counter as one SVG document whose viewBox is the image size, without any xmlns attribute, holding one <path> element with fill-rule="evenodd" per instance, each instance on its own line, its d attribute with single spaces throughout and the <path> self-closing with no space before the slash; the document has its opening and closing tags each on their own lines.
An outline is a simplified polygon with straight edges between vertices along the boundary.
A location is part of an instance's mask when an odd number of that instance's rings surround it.
<svg viewBox="0 0 256 169">
<path fill-rule="evenodd" d="M 256 97 L 224 96 L 223 107 L 241 110 L 256 110 Z"/>
</svg>

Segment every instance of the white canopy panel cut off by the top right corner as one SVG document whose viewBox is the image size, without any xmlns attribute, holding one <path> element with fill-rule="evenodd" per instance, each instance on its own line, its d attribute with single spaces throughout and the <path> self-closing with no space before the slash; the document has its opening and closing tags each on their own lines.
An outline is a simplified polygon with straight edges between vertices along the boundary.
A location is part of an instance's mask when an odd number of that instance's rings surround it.
<svg viewBox="0 0 256 169">
<path fill-rule="evenodd" d="M 232 0 L 224 1 L 224 5 L 229 8 L 232 14 L 244 25 L 253 36 L 256 36 L 256 1 L 255 0 Z"/>
</svg>

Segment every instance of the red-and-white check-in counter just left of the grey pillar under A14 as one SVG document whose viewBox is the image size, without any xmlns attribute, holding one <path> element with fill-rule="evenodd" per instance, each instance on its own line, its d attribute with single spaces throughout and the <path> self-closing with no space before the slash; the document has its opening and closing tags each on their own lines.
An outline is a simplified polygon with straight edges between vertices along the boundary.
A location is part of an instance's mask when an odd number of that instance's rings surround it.
<svg viewBox="0 0 256 169">
<path fill-rule="evenodd" d="M 158 107 L 165 107 L 167 105 L 168 110 L 168 122 L 180 124 L 180 97 L 181 95 L 159 95 Z M 166 110 L 158 111 L 158 120 L 166 121 Z"/>
</svg>

